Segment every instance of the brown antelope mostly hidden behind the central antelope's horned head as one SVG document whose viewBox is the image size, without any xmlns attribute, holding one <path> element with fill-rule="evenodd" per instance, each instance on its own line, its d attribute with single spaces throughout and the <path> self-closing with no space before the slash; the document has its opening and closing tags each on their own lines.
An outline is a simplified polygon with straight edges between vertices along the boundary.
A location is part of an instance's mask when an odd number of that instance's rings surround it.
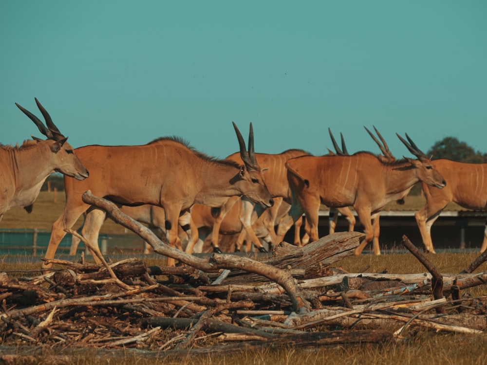
<svg viewBox="0 0 487 365">
<path fill-rule="evenodd" d="M 285 168 L 285 162 L 293 157 L 296 156 L 303 156 L 303 155 L 308 155 L 308 152 L 305 152 L 301 149 L 288 149 L 284 152 L 281 152 L 279 154 L 267 154 L 267 153 L 256 153 L 256 160 L 258 161 L 259 165 L 261 166 L 262 170 L 265 170 L 264 176 L 265 176 L 265 183 L 267 184 L 267 188 L 269 189 L 269 193 L 273 198 L 278 198 L 281 197 L 284 199 L 284 201 L 287 201 L 290 203 L 291 201 L 291 192 L 289 189 L 289 183 L 287 182 L 286 178 L 286 168 Z M 241 164 L 242 163 L 242 158 L 239 156 L 239 153 L 234 153 L 228 156 L 225 160 L 228 161 L 233 161 L 235 163 Z M 225 218 L 225 215 L 230 211 L 232 208 L 233 204 L 238 201 L 237 198 L 234 199 L 229 199 L 228 201 L 225 202 L 224 205 L 222 205 L 221 210 L 219 211 L 218 215 L 215 215 L 214 218 L 214 223 L 213 223 L 213 228 L 212 228 L 212 238 L 211 238 L 211 244 L 213 246 L 213 250 L 215 252 L 221 252 L 220 248 L 218 247 L 218 241 L 219 241 L 219 232 L 220 232 L 220 225 L 222 224 L 223 219 Z M 254 243 L 254 245 L 261 251 L 261 252 L 266 252 L 265 248 L 262 246 L 262 243 L 260 242 L 259 238 L 255 235 L 255 233 L 252 231 L 252 223 L 251 223 L 251 217 L 252 217 L 252 212 L 254 210 L 254 203 L 252 201 L 249 201 L 248 199 L 243 198 L 242 199 L 242 204 L 243 204 L 243 210 L 242 210 L 242 215 L 241 215 L 241 220 L 242 224 L 244 226 L 244 229 L 247 233 L 247 236 L 251 241 Z M 272 213 L 276 213 L 277 210 L 272 210 Z M 269 232 L 274 232 L 274 222 L 276 220 L 276 217 L 273 217 L 269 221 L 269 226 L 268 226 L 268 231 Z M 292 223 L 291 223 L 292 224 Z M 274 232 L 275 236 L 275 232 Z M 274 242 L 275 244 L 275 242 Z"/>
</svg>

